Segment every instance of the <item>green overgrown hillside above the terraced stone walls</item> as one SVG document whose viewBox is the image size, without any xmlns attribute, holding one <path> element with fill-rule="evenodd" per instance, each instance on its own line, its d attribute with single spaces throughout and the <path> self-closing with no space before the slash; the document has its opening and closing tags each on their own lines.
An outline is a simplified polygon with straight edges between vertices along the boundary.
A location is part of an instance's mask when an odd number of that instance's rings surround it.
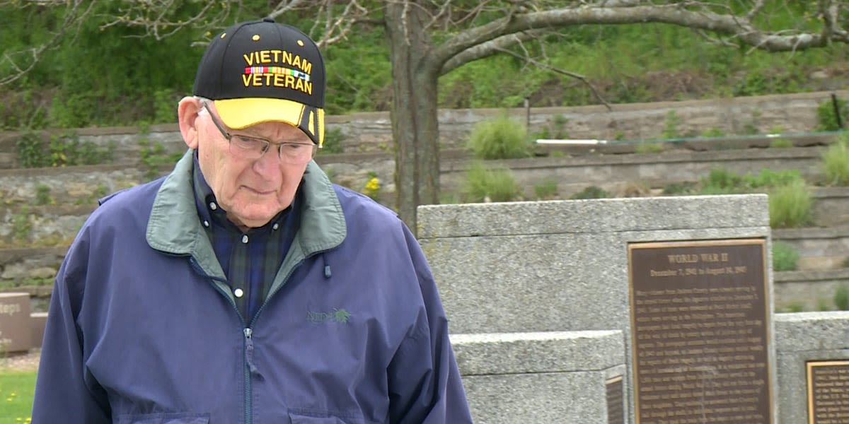
<svg viewBox="0 0 849 424">
<path fill-rule="evenodd" d="M 63 25 L 53 8 L 14 4 L 0 6 L 4 52 L 35 46 Z M 187 2 L 178 13 L 191 16 L 192 8 L 201 5 Z M 261 2 L 243 5 L 230 21 L 253 18 L 267 8 Z M 98 12 L 115 14 L 120 7 L 120 2 L 107 2 L 98 5 L 103 9 Z M 797 12 L 804 13 L 792 13 Z M 288 18 L 306 31 L 312 27 L 309 19 L 308 15 Z M 176 102 L 190 92 L 202 43 L 211 32 L 181 30 L 157 40 L 123 25 L 101 29 L 107 21 L 93 14 L 81 31 L 66 34 L 57 47 L 44 53 L 24 78 L 0 86 L 0 130 L 175 120 Z M 574 106 L 849 87 L 849 53 L 842 44 L 765 53 L 711 44 L 694 31 L 672 25 L 582 25 L 549 36 L 544 46 L 526 43 L 524 49 L 537 59 L 546 58 L 552 68 L 506 54 L 466 64 L 441 77 L 441 107 L 515 107 L 526 98 L 531 106 Z M 518 47 L 516 51 L 524 52 Z M 325 53 L 330 114 L 388 108 L 391 65 L 382 28 L 357 27 Z M 17 58 L 19 65 L 28 63 L 25 55 Z M 8 62 L 0 64 L 0 76 L 10 71 Z M 600 98 L 564 72 L 584 76 Z"/>
</svg>

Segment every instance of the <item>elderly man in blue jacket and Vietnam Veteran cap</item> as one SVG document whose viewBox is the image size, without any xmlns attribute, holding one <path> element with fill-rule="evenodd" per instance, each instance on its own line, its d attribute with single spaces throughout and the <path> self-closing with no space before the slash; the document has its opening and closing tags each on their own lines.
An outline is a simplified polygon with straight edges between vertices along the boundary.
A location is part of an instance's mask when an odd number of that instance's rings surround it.
<svg viewBox="0 0 849 424">
<path fill-rule="evenodd" d="M 415 238 L 312 161 L 324 88 L 291 26 L 212 40 L 188 152 L 102 199 L 65 256 L 34 422 L 471 422 Z"/>
</svg>

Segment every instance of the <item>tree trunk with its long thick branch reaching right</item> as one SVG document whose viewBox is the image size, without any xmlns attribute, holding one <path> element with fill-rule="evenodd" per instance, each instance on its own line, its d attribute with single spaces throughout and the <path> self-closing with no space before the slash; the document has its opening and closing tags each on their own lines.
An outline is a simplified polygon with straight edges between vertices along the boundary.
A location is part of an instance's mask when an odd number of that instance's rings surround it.
<svg viewBox="0 0 849 424">
<path fill-rule="evenodd" d="M 700 31 L 711 42 L 749 45 L 771 52 L 849 42 L 844 26 L 849 8 L 846 1 L 820 0 L 818 25 L 799 22 L 798 28 L 780 31 L 762 30 L 756 25 L 768 21 L 764 17 L 767 14 L 764 3 L 765 0 L 386 1 L 381 12 L 392 60 L 391 119 L 399 215 L 415 229 L 416 207 L 438 202 L 436 90 L 440 75 L 473 60 L 501 53 L 520 42 L 540 40 L 568 25 L 661 22 Z M 479 24 L 483 14 L 490 18 Z M 493 14 L 498 17 L 492 18 Z M 818 31 L 805 31 L 804 25 L 818 26 Z M 451 35 L 437 44 L 431 39 L 431 34 L 437 31 L 441 31 L 441 36 Z"/>
</svg>

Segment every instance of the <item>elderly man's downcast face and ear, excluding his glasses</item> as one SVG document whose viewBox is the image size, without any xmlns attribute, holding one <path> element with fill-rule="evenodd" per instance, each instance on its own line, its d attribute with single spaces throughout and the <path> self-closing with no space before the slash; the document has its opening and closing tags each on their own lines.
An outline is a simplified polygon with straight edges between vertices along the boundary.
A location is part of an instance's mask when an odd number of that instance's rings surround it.
<svg viewBox="0 0 849 424">
<path fill-rule="evenodd" d="M 233 224 L 243 230 L 263 226 L 292 203 L 308 162 L 285 163 L 274 145 L 259 159 L 239 158 L 231 153 L 230 142 L 216 128 L 210 114 L 216 114 L 212 104 L 208 112 L 198 114 L 196 124 L 200 170 Z M 273 143 L 312 145 L 303 131 L 283 122 L 264 122 L 239 131 L 225 130 L 234 136 L 264 138 Z"/>
</svg>

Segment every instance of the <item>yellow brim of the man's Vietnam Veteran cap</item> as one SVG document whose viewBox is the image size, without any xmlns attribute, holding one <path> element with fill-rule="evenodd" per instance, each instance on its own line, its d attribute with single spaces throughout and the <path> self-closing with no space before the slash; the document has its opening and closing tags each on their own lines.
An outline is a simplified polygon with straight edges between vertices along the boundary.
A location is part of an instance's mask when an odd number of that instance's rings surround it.
<svg viewBox="0 0 849 424">
<path fill-rule="evenodd" d="M 324 144 L 324 109 L 284 98 L 226 98 L 213 103 L 224 125 L 233 130 L 285 122 L 304 131 L 319 148 Z"/>
</svg>

